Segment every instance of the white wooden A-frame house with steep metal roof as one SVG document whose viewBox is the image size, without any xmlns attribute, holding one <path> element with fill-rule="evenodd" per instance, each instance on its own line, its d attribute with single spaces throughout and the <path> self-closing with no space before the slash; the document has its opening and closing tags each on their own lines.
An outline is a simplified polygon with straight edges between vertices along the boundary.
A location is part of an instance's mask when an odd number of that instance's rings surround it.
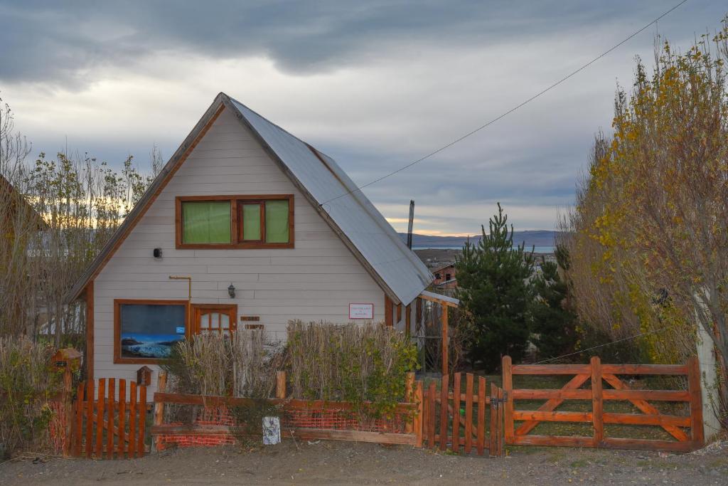
<svg viewBox="0 0 728 486">
<path fill-rule="evenodd" d="M 199 332 L 403 329 L 431 281 L 331 157 L 220 93 L 71 297 L 87 303 L 87 375 L 133 380 Z"/>
</svg>

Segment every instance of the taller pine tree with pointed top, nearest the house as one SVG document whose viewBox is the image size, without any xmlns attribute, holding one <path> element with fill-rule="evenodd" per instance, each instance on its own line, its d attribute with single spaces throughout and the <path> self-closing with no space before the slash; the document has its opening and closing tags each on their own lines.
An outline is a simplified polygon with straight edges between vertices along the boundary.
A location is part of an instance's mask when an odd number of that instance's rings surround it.
<svg viewBox="0 0 728 486">
<path fill-rule="evenodd" d="M 456 259 L 458 297 L 471 316 L 467 353 L 472 363 L 495 369 L 502 355 L 518 360 L 529 340 L 529 278 L 534 267 L 533 249 L 525 243 L 513 248 L 513 225 L 498 203 L 498 214 L 481 226 L 477 245 L 468 240 Z"/>
</svg>

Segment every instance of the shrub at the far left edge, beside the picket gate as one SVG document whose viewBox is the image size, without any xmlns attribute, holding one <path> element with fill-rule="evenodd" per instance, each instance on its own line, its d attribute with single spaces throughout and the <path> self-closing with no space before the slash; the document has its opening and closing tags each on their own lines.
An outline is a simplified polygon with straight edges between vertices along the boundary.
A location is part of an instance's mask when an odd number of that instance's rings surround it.
<svg viewBox="0 0 728 486">
<path fill-rule="evenodd" d="M 49 367 L 52 354 L 52 346 L 27 337 L 0 337 L 0 456 L 50 447 L 49 401 L 62 386 Z"/>
</svg>

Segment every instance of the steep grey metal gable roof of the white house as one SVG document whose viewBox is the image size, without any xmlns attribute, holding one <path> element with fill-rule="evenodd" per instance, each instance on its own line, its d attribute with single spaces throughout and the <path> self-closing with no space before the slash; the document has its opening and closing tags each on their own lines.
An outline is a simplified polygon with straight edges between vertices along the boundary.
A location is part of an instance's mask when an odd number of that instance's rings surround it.
<svg viewBox="0 0 728 486">
<path fill-rule="evenodd" d="M 328 155 L 269 122 L 239 101 L 220 93 L 119 230 L 76 282 L 71 289 L 71 299 L 80 297 L 87 283 L 100 272 L 103 264 L 141 219 L 146 208 L 172 178 L 223 107 L 230 109 L 250 128 L 274 162 L 395 303 L 408 304 L 419 296 L 432 281 L 432 275 L 416 254 L 405 246 L 384 216 L 357 190 L 357 186 L 339 165 Z M 344 197 L 339 197 L 341 195 Z"/>
</svg>

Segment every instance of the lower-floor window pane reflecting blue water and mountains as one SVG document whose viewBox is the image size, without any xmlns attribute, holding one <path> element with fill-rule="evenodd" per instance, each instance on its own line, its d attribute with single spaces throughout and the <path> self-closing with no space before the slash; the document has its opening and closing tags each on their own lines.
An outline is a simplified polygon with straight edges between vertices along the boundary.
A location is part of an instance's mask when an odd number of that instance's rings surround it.
<svg viewBox="0 0 728 486">
<path fill-rule="evenodd" d="M 119 306 L 122 358 L 167 358 L 184 340 L 185 304 Z"/>
</svg>

